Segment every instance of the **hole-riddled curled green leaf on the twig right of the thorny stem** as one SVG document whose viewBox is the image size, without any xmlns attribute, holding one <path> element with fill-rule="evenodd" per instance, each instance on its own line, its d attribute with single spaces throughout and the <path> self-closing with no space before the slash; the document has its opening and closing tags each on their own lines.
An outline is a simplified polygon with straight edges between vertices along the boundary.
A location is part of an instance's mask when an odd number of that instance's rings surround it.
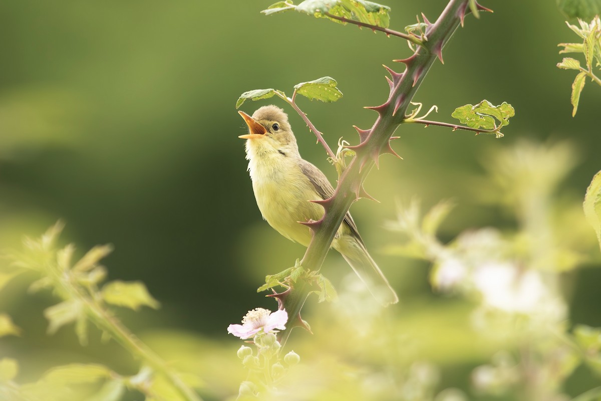
<svg viewBox="0 0 601 401">
<path fill-rule="evenodd" d="M 513 107 L 507 102 L 493 106 L 487 100 L 482 100 L 475 106 L 465 105 L 455 109 L 451 117 L 457 118 L 463 124 L 472 128 L 493 130 L 496 128 L 495 118 L 500 126 L 509 124 L 509 118 L 516 114 Z"/>
</svg>

